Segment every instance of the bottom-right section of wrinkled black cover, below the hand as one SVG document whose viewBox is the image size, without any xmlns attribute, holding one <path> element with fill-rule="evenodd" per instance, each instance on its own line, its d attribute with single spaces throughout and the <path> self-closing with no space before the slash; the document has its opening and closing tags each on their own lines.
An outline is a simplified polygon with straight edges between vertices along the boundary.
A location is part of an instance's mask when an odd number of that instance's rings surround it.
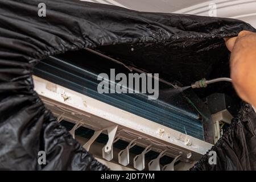
<svg viewBox="0 0 256 182">
<path fill-rule="evenodd" d="M 198 163 L 192 171 L 256 170 L 256 113 L 249 104 L 244 104 L 233 119 L 229 129 Z M 214 151 L 210 152 L 210 151 Z M 209 153 L 210 152 L 210 153 Z M 216 153 L 215 153 L 216 152 Z M 213 155 L 216 154 L 216 163 Z M 209 163 L 212 163 L 210 164 Z"/>
</svg>

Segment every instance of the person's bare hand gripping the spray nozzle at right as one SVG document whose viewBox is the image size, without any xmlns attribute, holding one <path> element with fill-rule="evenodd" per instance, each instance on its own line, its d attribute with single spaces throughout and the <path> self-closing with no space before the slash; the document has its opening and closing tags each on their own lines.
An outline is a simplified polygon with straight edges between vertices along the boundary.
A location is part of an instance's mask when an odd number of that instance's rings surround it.
<svg viewBox="0 0 256 182">
<path fill-rule="evenodd" d="M 231 51 L 231 78 L 237 94 L 256 106 L 256 34 L 241 31 L 237 37 L 225 39 Z"/>
</svg>

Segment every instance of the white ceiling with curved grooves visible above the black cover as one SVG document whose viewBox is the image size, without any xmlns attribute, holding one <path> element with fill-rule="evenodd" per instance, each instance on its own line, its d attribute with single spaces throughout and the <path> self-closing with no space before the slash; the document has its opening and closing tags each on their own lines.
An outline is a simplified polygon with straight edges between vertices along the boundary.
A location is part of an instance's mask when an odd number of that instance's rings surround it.
<svg viewBox="0 0 256 182">
<path fill-rule="evenodd" d="M 256 27 L 256 0 L 80 0 L 126 7 L 137 11 L 213 16 L 210 3 L 216 4 L 216 16 L 241 19 Z"/>
</svg>

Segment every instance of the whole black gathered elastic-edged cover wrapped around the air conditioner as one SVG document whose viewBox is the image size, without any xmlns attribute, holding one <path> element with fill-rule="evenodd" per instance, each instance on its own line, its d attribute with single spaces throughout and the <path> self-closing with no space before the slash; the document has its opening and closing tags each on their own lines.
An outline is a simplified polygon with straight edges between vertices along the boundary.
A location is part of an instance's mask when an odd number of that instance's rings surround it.
<svg viewBox="0 0 256 182">
<path fill-rule="evenodd" d="M 39 3 L 46 4 L 46 17 L 38 16 Z M 31 76 L 40 60 L 98 48 L 187 84 L 209 77 L 214 65 L 228 65 L 222 38 L 255 31 L 240 20 L 140 13 L 75 0 L 1 0 L 0 22 L 0 169 L 12 170 L 108 169 L 56 122 L 34 91 Z M 241 122 L 246 118 L 250 122 Z M 213 147 L 222 156 L 218 167 L 209 167 L 204 157 L 193 169 L 255 169 L 253 119 L 242 114 L 229 137 Z M 38 164 L 38 151 L 46 151 L 46 165 Z"/>
</svg>

